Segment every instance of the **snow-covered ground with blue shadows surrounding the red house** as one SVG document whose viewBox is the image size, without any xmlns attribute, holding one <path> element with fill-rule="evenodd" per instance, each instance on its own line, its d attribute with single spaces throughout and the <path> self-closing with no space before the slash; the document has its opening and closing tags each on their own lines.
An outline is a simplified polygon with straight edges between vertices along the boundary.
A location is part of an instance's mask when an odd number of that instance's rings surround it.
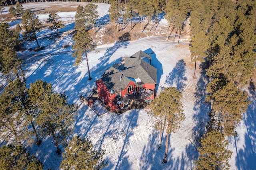
<svg viewBox="0 0 256 170">
<path fill-rule="evenodd" d="M 58 3 L 58 2 L 54 2 Z M 67 2 L 70 3 L 70 2 Z M 52 3 L 24 4 L 24 8 L 34 5 L 46 8 Z M 63 4 L 63 2 L 59 2 Z M 85 3 L 84 3 L 85 4 Z M 45 5 L 45 6 L 44 6 Z M 108 14 L 108 4 L 98 4 L 100 16 Z M 8 10 L 5 11 L 8 12 Z M 3 13 L 4 14 L 4 13 Z M 74 27 L 74 12 L 59 12 L 66 22 L 68 31 Z M 47 15 L 46 15 L 47 17 Z M 39 18 L 44 21 L 44 14 Z M 162 23 L 166 23 L 162 19 Z M 14 23 L 11 23 L 15 25 Z M 40 35 L 48 34 L 48 30 Z M 64 33 L 65 34 L 65 33 Z M 19 56 L 24 59 L 22 67 L 26 70 L 27 86 L 36 79 L 52 83 L 54 91 L 68 95 L 70 103 L 79 105 L 79 114 L 75 123 L 75 133 L 90 138 L 97 148 L 102 148 L 109 166 L 105 170 L 170 170 L 192 169 L 198 152 L 196 147 L 201 134 L 205 132 L 208 121 L 209 106 L 204 103 L 207 79 L 204 73 L 198 73 L 193 79 L 194 64 L 190 63 L 188 45 L 167 42 L 161 37 L 141 38 L 130 42 L 116 42 L 100 45 L 97 52 L 88 53 L 91 76 L 88 80 L 86 62 L 74 67 L 71 57 L 71 46 L 64 49 L 64 44 L 72 45 L 72 36 L 65 34 L 54 41 L 40 38 L 40 44 L 46 49 L 40 52 L 24 51 Z M 36 43 L 28 43 L 26 47 L 35 47 Z M 88 106 L 82 105 L 80 95 L 85 95 L 96 86 L 95 81 L 114 63 L 120 63 L 123 57 L 142 50 L 151 53 L 152 64 L 158 68 L 158 91 L 164 87 L 177 87 L 183 94 L 183 105 L 186 120 L 176 133 L 170 135 L 168 162 L 162 164 L 164 158 L 166 134 L 162 138 L 161 149 L 158 150 L 159 132 L 154 130 L 154 119 L 146 110 L 135 109 L 122 115 L 106 113 L 100 117 Z M 0 82 L 4 82 L 1 77 Z M 244 121 L 236 129 L 238 136 L 229 139 L 228 149 L 233 152 L 230 164 L 232 170 L 256 169 L 256 100 L 255 92 L 250 92 L 252 104 L 244 114 Z M 44 138 L 40 146 L 33 145 L 28 151 L 35 154 L 44 163 L 44 168 L 58 169 L 61 156 L 56 154 L 52 138 Z M 64 149 L 62 148 L 62 151 Z"/>
</svg>

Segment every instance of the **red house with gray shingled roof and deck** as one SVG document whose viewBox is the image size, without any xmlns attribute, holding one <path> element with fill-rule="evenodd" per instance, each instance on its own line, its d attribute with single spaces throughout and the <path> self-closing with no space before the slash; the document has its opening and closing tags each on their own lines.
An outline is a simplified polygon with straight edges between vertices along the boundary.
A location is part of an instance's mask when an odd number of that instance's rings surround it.
<svg viewBox="0 0 256 170">
<path fill-rule="evenodd" d="M 98 95 L 111 110 L 126 109 L 132 102 L 151 102 L 155 97 L 157 69 L 143 51 L 125 59 L 118 67 L 110 67 L 96 81 Z"/>
</svg>

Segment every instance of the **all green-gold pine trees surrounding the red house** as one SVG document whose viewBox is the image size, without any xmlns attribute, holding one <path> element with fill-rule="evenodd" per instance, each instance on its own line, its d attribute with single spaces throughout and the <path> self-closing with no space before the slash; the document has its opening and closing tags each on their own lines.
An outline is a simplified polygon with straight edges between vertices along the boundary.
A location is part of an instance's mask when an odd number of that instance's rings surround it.
<svg viewBox="0 0 256 170">
<path fill-rule="evenodd" d="M 30 10 L 22 7 L 28 2 L 49 2 L 48 0 L 2 0 L 2 6 L 10 7 L 9 15 L 22 16 L 22 28 L 17 25 L 10 30 L 9 24 L 0 23 L 0 71 L 8 77 L 8 86 L 0 95 L 0 132 L 1 138 L 13 141 L 12 145 L 0 148 L 0 152 L 7 153 L 0 159 L 0 167 L 12 169 L 13 164 L 19 164 L 19 168 L 42 169 L 42 162 L 34 156 L 26 153 L 28 144 L 40 144 L 42 138 L 52 137 L 56 152 L 61 154 L 62 147 L 66 147 L 63 154 L 64 161 L 61 166 L 64 169 L 70 167 L 70 163 L 82 160 L 81 156 L 97 157 L 96 162 L 88 162 L 88 167 L 104 167 L 102 162 L 104 152 L 92 150 L 89 140 L 76 136 L 71 138 L 78 107 L 67 103 L 65 93 L 55 93 L 52 85 L 42 80 L 36 80 L 26 88 L 26 78 L 18 59 L 17 51 L 20 49 L 20 31 L 24 30 L 23 40 L 36 40 L 36 33 L 40 32 L 42 24 L 38 17 Z M 198 159 L 195 160 L 195 169 L 228 169 L 228 159 L 231 152 L 226 149 L 228 141 L 226 137 L 236 136 L 235 128 L 242 121 L 242 114 L 246 112 L 250 101 L 243 87 L 256 78 L 256 1 L 255 0 L 82 0 L 82 2 L 109 3 L 110 21 L 118 31 L 119 22 L 129 22 L 133 28 L 133 18 L 140 18 L 141 32 L 151 20 L 157 22 L 158 15 L 165 12 L 168 21 L 167 39 L 172 33 L 179 33 L 184 29 L 187 20 L 190 21 L 191 30 L 191 62 L 195 63 L 194 78 L 199 71 L 200 63 L 206 65 L 206 76 L 209 82 L 206 88 L 206 101 L 211 106 L 206 134 L 201 134 Z M 61 2 L 60 2 L 61 3 Z M 87 52 L 94 49 L 95 45 L 88 33 L 93 28 L 96 34 L 95 23 L 98 19 L 97 6 L 89 4 L 78 6 L 75 16 L 74 36 L 76 57 L 74 65 L 79 65 L 82 56 L 86 56 L 89 79 L 92 79 L 89 71 Z M 2 10 L 1 10 L 2 11 Z M 146 19 L 146 20 L 145 20 Z M 56 13 L 51 13 L 48 23 L 49 28 L 63 27 Z M 174 36 L 175 38 L 175 36 Z M 156 97 L 152 103 L 152 115 L 156 117 L 156 130 L 160 131 L 161 148 L 162 133 L 167 133 L 166 152 L 163 162 L 166 163 L 168 154 L 169 135 L 179 128 L 179 124 L 185 119 L 180 100 L 181 93 L 174 87 L 166 88 Z M 170 100 L 173 102 L 170 103 Z M 169 101 L 169 102 L 166 102 Z M 54 103 L 54 105 L 49 105 Z M 49 121 L 54 120 L 54 121 Z M 32 127 L 32 128 L 29 128 Z M 214 140 L 213 140 L 214 139 Z M 25 142 L 26 141 L 26 142 Z M 213 142 L 214 141 L 214 142 Z M 78 147 L 73 153 L 70 148 L 76 144 Z M 73 148 L 74 149 L 74 148 Z M 80 150 L 88 150 L 88 154 Z M 90 155 L 94 153 L 94 155 Z M 71 155 L 70 155 L 71 154 Z M 72 155 L 73 154 L 73 155 Z M 74 157 L 74 155 L 76 157 Z M 10 158 L 15 156 L 15 158 Z M 80 156 L 80 157 L 79 157 Z M 10 159 L 10 160 L 8 160 Z M 6 161 L 5 161 L 6 160 Z M 98 162 L 99 161 L 99 162 Z M 80 164 L 77 167 L 82 167 Z"/>
</svg>

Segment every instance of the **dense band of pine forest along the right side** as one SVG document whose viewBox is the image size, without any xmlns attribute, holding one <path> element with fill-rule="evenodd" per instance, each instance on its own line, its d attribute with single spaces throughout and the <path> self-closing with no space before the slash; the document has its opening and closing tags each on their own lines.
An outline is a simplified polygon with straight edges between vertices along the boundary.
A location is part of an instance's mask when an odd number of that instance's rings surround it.
<svg viewBox="0 0 256 170">
<path fill-rule="evenodd" d="M 211 105 L 210 122 L 198 148 L 195 169 L 230 166 L 225 136 L 236 136 L 235 128 L 250 104 L 242 88 L 255 77 L 255 18 L 256 2 L 252 0 L 202 0 L 194 4 L 190 13 L 194 77 L 198 61 L 205 62 L 210 79 L 206 102 Z"/>
</svg>

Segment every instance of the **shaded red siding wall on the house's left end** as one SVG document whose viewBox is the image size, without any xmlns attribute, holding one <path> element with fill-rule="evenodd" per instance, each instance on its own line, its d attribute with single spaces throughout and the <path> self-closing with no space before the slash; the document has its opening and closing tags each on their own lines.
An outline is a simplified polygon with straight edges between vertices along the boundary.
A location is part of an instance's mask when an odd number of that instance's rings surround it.
<svg viewBox="0 0 256 170">
<path fill-rule="evenodd" d="M 99 97 L 102 98 L 104 97 L 104 103 L 110 107 L 110 109 L 112 109 L 112 99 L 111 99 L 111 95 L 106 87 L 106 85 L 104 84 L 104 82 L 102 81 L 102 79 L 99 79 L 96 81 L 96 85 L 97 85 L 97 89 L 98 89 L 98 94 Z"/>
</svg>

